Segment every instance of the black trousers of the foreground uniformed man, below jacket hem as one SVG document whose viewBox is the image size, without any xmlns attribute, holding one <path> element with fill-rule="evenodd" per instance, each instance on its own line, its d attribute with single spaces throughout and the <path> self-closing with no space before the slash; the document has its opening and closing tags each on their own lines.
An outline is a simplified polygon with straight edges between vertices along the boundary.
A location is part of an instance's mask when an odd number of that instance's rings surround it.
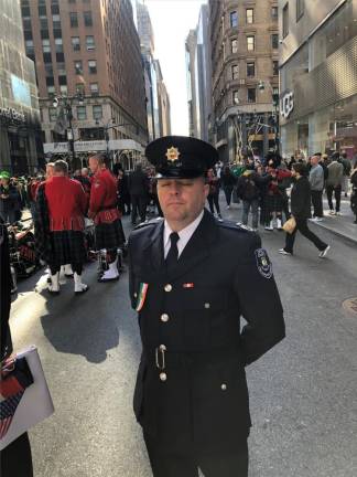
<svg viewBox="0 0 357 477">
<path fill-rule="evenodd" d="M 153 477 L 248 477 L 247 438 L 237 438 L 237 447 L 225 452 L 170 453 L 144 435 Z"/>
</svg>

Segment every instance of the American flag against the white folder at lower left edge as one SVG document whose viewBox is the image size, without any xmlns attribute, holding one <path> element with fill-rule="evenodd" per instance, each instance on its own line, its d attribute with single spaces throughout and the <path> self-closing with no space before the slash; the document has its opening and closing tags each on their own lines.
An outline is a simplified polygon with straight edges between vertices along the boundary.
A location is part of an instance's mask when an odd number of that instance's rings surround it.
<svg viewBox="0 0 357 477">
<path fill-rule="evenodd" d="M 0 382 L 0 438 L 11 425 L 18 405 L 33 378 L 25 358 L 2 364 Z"/>
</svg>

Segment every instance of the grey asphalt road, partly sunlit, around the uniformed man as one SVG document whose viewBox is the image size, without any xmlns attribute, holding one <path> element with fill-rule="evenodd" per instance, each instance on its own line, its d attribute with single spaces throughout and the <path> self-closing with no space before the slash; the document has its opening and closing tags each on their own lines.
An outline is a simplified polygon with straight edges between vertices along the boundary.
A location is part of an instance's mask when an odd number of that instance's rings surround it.
<svg viewBox="0 0 357 477">
<path fill-rule="evenodd" d="M 225 212 L 238 220 L 237 209 Z M 261 233 L 286 339 L 247 370 L 250 477 L 357 476 L 357 315 L 342 308 L 357 297 L 357 250 L 312 227 L 332 245 L 325 259 L 301 236 L 295 255 L 281 256 L 284 234 Z M 14 347 L 39 347 L 56 410 L 30 432 L 35 476 L 149 477 L 132 413 L 140 339 L 128 274 L 98 284 L 91 264 L 84 278 L 86 295 L 75 297 L 67 280 L 48 297 L 39 273 L 12 304 Z"/>
</svg>

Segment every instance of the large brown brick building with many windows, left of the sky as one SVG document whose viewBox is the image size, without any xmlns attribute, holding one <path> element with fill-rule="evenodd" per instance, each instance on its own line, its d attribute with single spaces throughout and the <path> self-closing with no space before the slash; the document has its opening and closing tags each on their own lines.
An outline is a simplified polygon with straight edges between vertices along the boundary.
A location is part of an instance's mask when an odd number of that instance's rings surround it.
<svg viewBox="0 0 357 477">
<path fill-rule="evenodd" d="M 64 121 L 58 121 L 66 103 L 75 141 L 145 145 L 144 73 L 130 0 L 21 0 L 21 9 L 45 141 L 66 140 Z"/>
</svg>

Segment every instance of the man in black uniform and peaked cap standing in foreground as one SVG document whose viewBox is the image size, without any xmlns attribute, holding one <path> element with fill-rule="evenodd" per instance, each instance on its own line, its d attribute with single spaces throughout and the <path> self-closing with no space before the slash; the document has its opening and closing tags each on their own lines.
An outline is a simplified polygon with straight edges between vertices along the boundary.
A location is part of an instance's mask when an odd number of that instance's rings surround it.
<svg viewBox="0 0 357 477">
<path fill-rule="evenodd" d="M 153 475 L 246 477 L 245 367 L 284 338 L 271 263 L 257 234 L 204 209 L 215 148 L 169 136 L 145 156 L 164 220 L 132 232 L 129 266 L 143 348 L 134 412 Z"/>
</svg>

